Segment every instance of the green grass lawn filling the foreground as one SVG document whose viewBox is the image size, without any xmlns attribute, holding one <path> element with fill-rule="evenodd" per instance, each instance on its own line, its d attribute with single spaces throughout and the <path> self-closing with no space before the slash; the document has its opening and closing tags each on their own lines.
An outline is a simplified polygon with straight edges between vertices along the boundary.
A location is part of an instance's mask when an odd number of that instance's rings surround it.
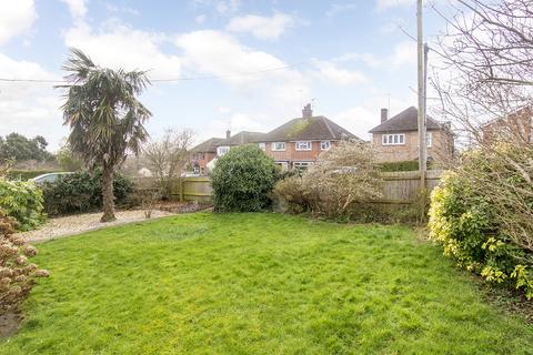
<svg viewBox="0 0 533 355">
<path fill-rule="evenodd" d="M 533 354 L 408 227 L 198 213 L 38 246 L 0 354 Z"/>
</svg>

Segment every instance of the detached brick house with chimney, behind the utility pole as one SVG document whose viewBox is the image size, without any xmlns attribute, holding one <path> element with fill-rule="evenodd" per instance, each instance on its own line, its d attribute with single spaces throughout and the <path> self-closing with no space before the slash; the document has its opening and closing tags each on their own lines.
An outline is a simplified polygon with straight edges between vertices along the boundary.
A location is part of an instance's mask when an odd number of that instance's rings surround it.
<svg viewBox="0 0 533 355">
<path fill-rule="evenodd" d="M 450 123 L 440 123 L 428 116 L 425 122 L 428 161 L 446 162 L 454 154 L 454 134 Z M 389 110 L 381 109 L 381 123 L 370 130 L 378 162 L 398 162 L 419 159 L 418 110 L 403 110 L 389 119 Z"/>
</svg>

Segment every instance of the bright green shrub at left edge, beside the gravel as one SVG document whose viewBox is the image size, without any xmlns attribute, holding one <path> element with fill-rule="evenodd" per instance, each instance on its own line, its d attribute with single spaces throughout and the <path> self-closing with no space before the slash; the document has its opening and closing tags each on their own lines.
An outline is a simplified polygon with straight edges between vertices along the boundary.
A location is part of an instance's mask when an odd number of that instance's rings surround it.
<svg viewBox="0 0 533 355">
<path fill-rule="evenodd" d="M 0 178 L 0 209 L 29 231 L 44 221 L 42 192 L 32 183 Z"/>
</svg>

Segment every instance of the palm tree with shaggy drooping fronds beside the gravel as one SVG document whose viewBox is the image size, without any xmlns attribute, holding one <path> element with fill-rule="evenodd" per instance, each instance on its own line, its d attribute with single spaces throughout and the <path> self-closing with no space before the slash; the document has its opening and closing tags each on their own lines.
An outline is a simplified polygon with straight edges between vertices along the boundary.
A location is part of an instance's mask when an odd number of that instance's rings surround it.
<svg viewBox="0 0 533 355">
<path fill-rule="evenodd" d="M 148 138 L 143 123 L 152 114 L 135 95 L 150 81 L 144 71 L 100 68 L 78 49 L 62 69 L 69 72 L 69 84 L 61 85 L 68 89 L 61 106 L 71 130 L 68 143 L 90 169 L 102 169 L 101 221 L 114 221 L 114 170 Z"/>
</svg>

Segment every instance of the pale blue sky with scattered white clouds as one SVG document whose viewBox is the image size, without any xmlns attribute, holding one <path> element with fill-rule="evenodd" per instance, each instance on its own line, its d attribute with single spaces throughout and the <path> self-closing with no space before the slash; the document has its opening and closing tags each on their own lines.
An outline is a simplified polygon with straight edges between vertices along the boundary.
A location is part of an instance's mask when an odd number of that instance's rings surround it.
<svg viewBox="0 0 533 355">
<path fill-rule="evenodd" d="M 393 115 L 416 104 L 413 0 L 0 6 L 0 78 L 61 80 L 70 48 L 101 67 L 148 70 L 154 81 L 140 100 L 153 114 L 147 129 L 154 139 L 167 129 L 191 129 L 197 142 L 228 129 L 268 132 L 301 116 L 308 102 L 314 114 L 369 139 L 381 108 Z M 424 16 L 431 42 L 444 21 L 430 4 Z M 168 79 L 178 80 L 157 81 Z M 0 82 L 0 135 L 43 135 L 57 150 L 69 134 L 63 94 L 49 82 Z"/>
</svg>

